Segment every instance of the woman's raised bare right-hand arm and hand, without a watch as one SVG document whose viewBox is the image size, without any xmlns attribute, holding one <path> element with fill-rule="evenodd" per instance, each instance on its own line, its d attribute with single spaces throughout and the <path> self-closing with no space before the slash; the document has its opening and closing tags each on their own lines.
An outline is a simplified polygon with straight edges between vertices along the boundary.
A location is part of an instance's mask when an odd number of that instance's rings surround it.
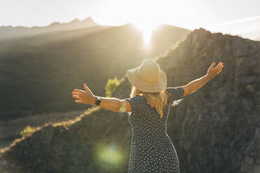
<svg viewBox="0 0 260 173">
<path fill-rule="evenodd" d="M 193 80 L 192 82 L 189 82 L 189 84 L 185 86 L 182 86 L 183 89 L 185 89 L 185 93 L 183 94 L 183 96 L 186 96 L 189 93 L 193 93 L 197 89 L 201 88 L 210 79 L 215 77 L 215 75 L 218 75 L 222 71 L 224 63 L 219 62 L 219 64 L 215 68 L 213 68 L 213 66 L 215 66 L 215 62 L 213 62 L 210 68 L 208 68 L 208 73 L 206 75 L 196 80 Z"/>
</svg>

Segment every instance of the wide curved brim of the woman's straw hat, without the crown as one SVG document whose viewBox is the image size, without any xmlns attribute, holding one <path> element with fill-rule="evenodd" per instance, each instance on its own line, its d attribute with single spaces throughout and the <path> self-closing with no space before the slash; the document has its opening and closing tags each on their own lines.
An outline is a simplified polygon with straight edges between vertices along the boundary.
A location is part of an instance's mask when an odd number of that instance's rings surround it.
<svg viewBox="0 0 260 173">
<path fill-rule="evenodd" d="M 159 91 L 164 91 L 167 87 L 167 76 L 164 73 L 164 70 L 160 70 L 159 72 L 159 80 L 157 83 L 148 84 L 143 80 L 140 80 L 137 74 L 138 67 L 133 68 L 131 70 L 127 70 L 127 79 L 129 82 L 136 87 L 139 91 L 147 92 L 147 93 L 157 93 Z"/>
</svg>

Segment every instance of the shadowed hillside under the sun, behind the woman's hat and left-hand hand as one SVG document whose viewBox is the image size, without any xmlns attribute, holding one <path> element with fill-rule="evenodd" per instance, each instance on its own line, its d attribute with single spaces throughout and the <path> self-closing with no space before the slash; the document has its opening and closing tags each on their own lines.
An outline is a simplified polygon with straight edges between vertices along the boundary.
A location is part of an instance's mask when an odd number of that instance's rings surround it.
<svg viewBox="0 0 260 173">
<path fill-rule="evenodd" d="M 142 33 L 125 24 L 42 33 L 0 41 L 0 120 L 83 110 L 71 91 L 84 83 L 105 95 L 108 78 L 120 79 L 143 59 L 163 53 L 190 31 L 161 25 L 150 47 Z"/>
</svg>

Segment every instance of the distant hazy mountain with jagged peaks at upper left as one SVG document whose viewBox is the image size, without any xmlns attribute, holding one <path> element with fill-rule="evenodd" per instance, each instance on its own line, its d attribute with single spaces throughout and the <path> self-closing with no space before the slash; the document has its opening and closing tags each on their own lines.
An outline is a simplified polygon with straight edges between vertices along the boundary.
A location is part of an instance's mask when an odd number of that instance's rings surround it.
<svg viewBox="0 0 260 173">
<path fill-rule="evenodd" d="M 7 38 L 23 38 L 26 36 L 34 36 L 39 33 L 47 33 L 52 31 L 66 31 L 71 29 L 83 29 L 97 26 L 96 22 L 91 17 L 87 17 L 85 20 L 72 20 L 67 23 L 53 22 L 46 27 L 0 27 L 0 40 L 6 40 Z"/>
</svg>

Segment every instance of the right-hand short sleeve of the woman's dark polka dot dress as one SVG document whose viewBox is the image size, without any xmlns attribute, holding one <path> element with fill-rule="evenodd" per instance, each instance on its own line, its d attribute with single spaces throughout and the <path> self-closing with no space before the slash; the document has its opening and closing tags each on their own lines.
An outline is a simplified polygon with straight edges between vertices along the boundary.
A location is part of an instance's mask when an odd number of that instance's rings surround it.
<svg viewBox="0 0 260 173">
<path fill-rule="evenodd" d="M 179 105 L 183 100 L 184 89 L 182 87 L 167 87 L 171 97 L 171 106 Z"/>
</svg>

